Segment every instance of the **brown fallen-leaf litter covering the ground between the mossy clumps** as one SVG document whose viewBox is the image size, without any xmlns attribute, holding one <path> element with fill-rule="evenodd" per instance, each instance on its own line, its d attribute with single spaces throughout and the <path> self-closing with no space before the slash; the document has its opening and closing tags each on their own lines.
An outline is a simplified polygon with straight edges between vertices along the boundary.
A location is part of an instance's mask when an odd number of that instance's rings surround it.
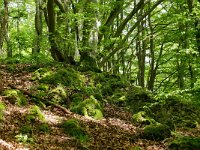
<svg viewBox="0 0 200 150">
<path fill-rule="evenodd" d="M 0 66 L 0 90 L 11 89 L 12 86 L 23 91 L 29 91 L 36 84 L 31 81 L 32 73 L 24 71 L 28 66 L 17 65 L 15 71 L 10 71 L 8 66 Z M 11 86 L 12 85 L 12 86 Z M 20 128 L 27 124 L 26 115 L 30 108 L 34 106 L 31 98 L 26 95 L 28 104 L 18 106 L 12 104 L 5 96 L 0 96 L 0 102 L 6 104 L 4 119 L 0 122 L 0 149 L 94 149 L 94 150 L 115 150 L 115 149 L 145 149 L 162 150 L 168 149 L 168 142 L 173 139 L 170 137 L 163 141 L 151 141 L 141 139 L 138 135 L 142 132 L 142 127 L 134 126 L 131 123 L 132 114 L 120 107 L 107 104 L 104 106 L 104 119 L 94 120 L 69 111 L 66 113 L 57 107 L 48 106 L 41 108 L 45 116 L 46 123 L 50 131 L 43 133 L 38 130 L 40 121 L 33 122 L 32 138 L 33 142 L 19 142 L 16 135 L 20 134 Z M 76 118 L 80 121 L 81 127 L 91 137 L 89 143 L 81 144 L 73 137 L 66 135 L 59 124 L 62 120 Z M 200 130 L 177 129 L 182 135 L 200 135 Z"/>
</svg>

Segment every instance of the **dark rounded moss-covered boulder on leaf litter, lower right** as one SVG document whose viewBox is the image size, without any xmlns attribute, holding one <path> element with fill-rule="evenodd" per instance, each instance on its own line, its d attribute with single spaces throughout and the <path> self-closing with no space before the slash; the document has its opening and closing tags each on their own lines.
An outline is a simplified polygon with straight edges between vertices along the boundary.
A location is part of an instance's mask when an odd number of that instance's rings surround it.
<svg viewBox="0 0 200 150">
<path fill-rule="evenodd" d="M 154 124 L 145 126 L 142 138 L 145 138 L 148 140 L 161 141 L 161 140 L 164 140 L 165 138 L 170 137 L 170 135 L 171 135 L 171 131 L 168 126 L 160 124 L 160 123 L 154 123 Z"/>
</svg>

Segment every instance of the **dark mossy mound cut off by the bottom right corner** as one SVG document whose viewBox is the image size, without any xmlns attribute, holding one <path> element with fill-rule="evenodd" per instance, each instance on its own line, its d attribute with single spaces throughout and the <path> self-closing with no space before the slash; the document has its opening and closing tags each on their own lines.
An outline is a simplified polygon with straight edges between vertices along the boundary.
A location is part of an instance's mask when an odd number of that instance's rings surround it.
<svg viewBox="0 0 200 150">
<path fill-rule="evenodd" d="M 170 150 L 199 150 L 200 137 L 178 137 L 169 145 Z"/>
</svg>

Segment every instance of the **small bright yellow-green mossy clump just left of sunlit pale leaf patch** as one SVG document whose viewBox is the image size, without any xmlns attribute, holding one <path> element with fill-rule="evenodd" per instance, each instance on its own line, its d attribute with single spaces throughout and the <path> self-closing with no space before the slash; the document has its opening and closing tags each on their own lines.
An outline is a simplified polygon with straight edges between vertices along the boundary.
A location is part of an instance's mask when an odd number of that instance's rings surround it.
<svg viewBox="0 0 200 150">
<path fill-rule="evenodd" d="M 46 121 L 45 116 L 41 112 L 40 108 L 35 105 L 30 109 L 30 113 L 27 115 L 27 120 L 34 122 L 37 119 L 40 120 L 40 121 L 43 121 L 43 122 Z"/>
</svg>

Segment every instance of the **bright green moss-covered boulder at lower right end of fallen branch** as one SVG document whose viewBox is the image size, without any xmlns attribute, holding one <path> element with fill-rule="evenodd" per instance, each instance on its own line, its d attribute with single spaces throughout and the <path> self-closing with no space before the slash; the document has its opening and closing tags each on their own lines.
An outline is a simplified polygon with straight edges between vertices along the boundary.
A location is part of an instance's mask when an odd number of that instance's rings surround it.
<svg viewBox="0 0 200 150">
<path fill-rule="evenodd" d="M 85 99 L 78 105 L 71 107 L 71 111 L 94 119 L 103 118 L 102 106 L 94 96 L 90 96 L 90 98 Z"/>
</svg>

